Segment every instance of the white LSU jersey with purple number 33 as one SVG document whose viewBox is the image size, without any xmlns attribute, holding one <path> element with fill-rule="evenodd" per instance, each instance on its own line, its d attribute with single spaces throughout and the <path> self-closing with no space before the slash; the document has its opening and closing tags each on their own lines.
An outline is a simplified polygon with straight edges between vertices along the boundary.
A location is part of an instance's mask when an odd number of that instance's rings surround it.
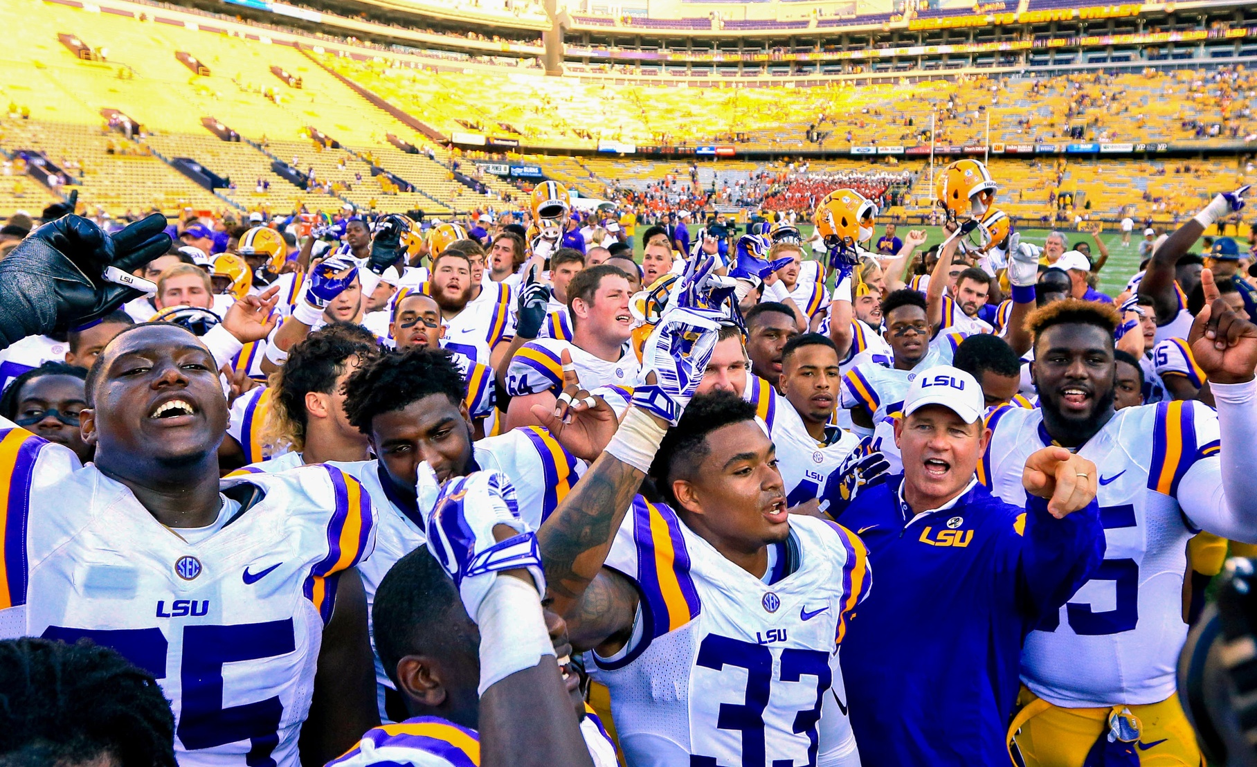
<svg viewBox="0 0 1257 767">
<path fill-rule="evenodd" d="M 866 551 L 831 522 L 792 516 L 789 527 L 763 580 L 669 507 L 634 500 L 606 560 L 641 593 L 634 640 L 595 655 L 628 764 L 856 758 L 835 700 L 846 698 L 838 644 L 871 582 Z"/>
</svg>

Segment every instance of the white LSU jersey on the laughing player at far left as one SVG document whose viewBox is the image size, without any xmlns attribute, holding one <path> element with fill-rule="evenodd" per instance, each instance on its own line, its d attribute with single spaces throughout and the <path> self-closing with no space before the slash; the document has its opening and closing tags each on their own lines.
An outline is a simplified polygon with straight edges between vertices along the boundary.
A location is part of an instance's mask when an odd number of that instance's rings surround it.
<svg viewBox="0 0 1257 767">
<path fill-rule="evenodd" d="M 126 485 L 11 426 L 0 420 L 4 634 L 92 639 L 151 671 L 184 767 L 246 754 L 298 767 L 338 573 L 375 544 L 357 480 L 327 466 L 224 479 L 217 529 L 185 538 Z"/>
</svg>

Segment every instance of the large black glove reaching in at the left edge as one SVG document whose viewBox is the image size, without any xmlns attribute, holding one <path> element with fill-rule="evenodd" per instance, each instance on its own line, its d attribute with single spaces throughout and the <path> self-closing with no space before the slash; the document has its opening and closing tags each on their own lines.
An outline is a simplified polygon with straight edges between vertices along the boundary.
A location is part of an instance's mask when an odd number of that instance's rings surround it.
<svg viewBox="0 0 1257 767">
<path fill-rule="evenodd" d="M 166 216 L 153 214 L 109 236 L 75 215 L 44 224 L 0 260 L 0 348 L 108 314 L 143 292 L 106 282 L 170 250 Z"/>
</svg>

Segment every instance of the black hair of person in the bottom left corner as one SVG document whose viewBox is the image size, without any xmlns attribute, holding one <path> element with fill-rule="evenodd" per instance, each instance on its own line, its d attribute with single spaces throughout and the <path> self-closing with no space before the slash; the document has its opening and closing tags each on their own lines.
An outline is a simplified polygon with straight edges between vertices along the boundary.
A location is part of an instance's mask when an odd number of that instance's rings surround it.
<svg viewBox="0 0 1257 767">
<path fill-rule="evenodd" d="M 151 671 L 89 640 L 0 641 L 0 763 L 176 767 L 175 715 Z"/>
</svg>

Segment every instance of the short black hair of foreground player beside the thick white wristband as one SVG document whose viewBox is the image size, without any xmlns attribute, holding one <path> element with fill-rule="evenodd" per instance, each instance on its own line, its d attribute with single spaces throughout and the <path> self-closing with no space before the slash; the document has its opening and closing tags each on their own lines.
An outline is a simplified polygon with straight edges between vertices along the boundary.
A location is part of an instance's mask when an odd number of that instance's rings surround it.
<svg viewBox="0 0 1257 767">
<path fill-rule="evenodd" d="M 397 684 L 397 661 L 407 655 L 441 655 L 475 641 L 459 630 L 450 612 L 461 609 L 454 581 L 426 546 L 388 568 L 371 605 L 376 654 L 385 674 Z"/>
</svg>

